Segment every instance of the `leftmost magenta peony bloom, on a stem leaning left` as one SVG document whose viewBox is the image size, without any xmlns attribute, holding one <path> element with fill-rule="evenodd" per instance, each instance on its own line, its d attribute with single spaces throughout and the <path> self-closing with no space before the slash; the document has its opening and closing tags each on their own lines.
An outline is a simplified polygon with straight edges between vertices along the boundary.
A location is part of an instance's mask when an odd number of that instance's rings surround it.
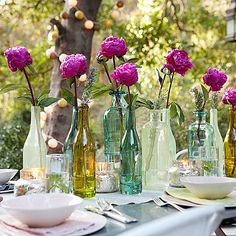
<svg viewBox="0 0 236 236">
<path fill-rule="evenodd" d="M 12 72 L 23 70 L 27 65 L 31 65 L 33 60 L 30 53 L 24 47 L 8 48 L 4 52 L 7 59 L 8 67 Z"/>
</svg>

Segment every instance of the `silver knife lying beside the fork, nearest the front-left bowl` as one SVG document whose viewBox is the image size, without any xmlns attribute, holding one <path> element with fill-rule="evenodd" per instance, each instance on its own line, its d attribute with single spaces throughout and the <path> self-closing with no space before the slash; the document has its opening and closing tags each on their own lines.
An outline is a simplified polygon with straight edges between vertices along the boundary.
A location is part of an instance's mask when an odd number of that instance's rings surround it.
<svg viewBox="0 0 236 236">
<path fill-rule="evenodd" d="M 125 214 L 119 215 L 119 214 L 111 212 L 111 211 L 103 211 L 103 210 L 99 209 L 98 207 L 85 206 L 84 208 L 87 211 L 91 211 L 91 212 L 97 213 L 99 215 L 108 216 L 108 217 L 110 217 L 114 220 L 120 221 L 120 222 L 125 223 L 125 224 L 138 221 L 137 219 L 135 219 L 133 217 L 130 217 L 130 216 L 127 216 Z"/>
</svg>

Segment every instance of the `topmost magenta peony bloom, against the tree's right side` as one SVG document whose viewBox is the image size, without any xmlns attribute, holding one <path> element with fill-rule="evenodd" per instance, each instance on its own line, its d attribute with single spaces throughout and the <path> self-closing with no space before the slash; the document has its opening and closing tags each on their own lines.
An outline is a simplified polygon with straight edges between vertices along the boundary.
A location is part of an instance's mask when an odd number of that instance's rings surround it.
<svg viewBox="0 0 236 236">
<path fill-rule="evenodd" d="M 113 56 L 122 57 L 126 52 L 125 40 L 110 36 L 102 42 L 99 54 L 111 59 Z"/>
</svg>

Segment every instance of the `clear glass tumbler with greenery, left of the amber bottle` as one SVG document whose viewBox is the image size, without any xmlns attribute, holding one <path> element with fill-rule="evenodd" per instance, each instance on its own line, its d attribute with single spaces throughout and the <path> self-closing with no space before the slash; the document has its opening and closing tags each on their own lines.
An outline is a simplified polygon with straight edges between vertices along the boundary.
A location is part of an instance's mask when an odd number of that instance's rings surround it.
<svg viewBox="0 0 236 236">
<path fill-rule="evenodd" d="M 69 159 L 64 154 L 46 156 L 47 190 L 50 193 L 69 193 Z"/>
</svg>

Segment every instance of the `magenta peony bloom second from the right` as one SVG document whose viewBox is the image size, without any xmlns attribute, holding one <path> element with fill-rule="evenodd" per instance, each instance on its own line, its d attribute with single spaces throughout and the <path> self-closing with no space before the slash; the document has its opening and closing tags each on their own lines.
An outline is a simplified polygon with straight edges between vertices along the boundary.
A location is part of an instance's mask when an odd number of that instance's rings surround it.
<svg viewBox="0 0 236 236">
<path fill-rule="evenodd" d="M 212 91 L 220 91 L 227 81 L 227 76 L 223 71 L 209 68 L 203 76 L 203 81 Z"/>
</svg>

